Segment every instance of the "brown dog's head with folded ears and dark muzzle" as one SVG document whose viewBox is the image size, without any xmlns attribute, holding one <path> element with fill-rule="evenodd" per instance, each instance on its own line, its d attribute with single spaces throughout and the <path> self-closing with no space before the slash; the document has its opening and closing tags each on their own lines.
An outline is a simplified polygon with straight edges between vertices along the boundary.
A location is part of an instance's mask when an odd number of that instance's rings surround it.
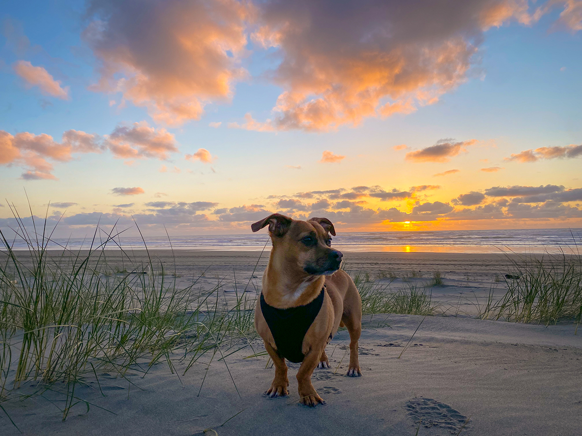
<svg viewBox="0 0 582 436">
<path fill-rule="evenodd" d="M 299 221 L 274 213 L 254 223 L 251 229 L 258 231 L 267 226 L 275 259 L 282 262 L 278 267 L 313 276 L 333 274 L 339 269 L 342 252 L 331 248 L 329 234 L 335 236 L 335 228 L 327 218 Z"/>
</svg>

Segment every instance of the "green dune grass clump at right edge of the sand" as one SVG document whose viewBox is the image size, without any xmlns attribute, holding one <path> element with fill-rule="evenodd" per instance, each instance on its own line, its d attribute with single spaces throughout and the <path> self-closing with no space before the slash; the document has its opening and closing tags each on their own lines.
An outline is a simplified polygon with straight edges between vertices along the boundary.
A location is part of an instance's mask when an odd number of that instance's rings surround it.
<svg viewBox="0 0 582 436">
<path fill-rule="evenodd" d="M 482 319 L 520 323 L 580 323 L 582 317 L 582 256 L 545 253 L 541 258 L 509 257 L 512 273 L 504 280 L 505 295 L 491 292 Z"/>
</svg>

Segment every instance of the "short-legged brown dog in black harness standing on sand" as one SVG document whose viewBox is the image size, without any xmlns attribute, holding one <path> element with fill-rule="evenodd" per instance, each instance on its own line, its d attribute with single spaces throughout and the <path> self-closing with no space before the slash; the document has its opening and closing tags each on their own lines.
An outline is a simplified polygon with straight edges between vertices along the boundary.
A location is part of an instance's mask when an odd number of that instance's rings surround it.
<svg viewBox="0 0 582 436">
<path fill-rule="evenodd" d="M 251 228 L 258 231 L 265 226 L 273 248 L 255 308 L 255 328 L 275 363 L 275 378 L 265 394 L 271 398 L 289 394 L 288 359 L 301 362 L 297 372 L 301 403 L 324 404 L 311 384 L 311 374 L 317 366 L 329 368 L 325 346 L 340 325 L 350 334 L 347 375 L 361 376 L 360 294 L 352 278 L 339 269 L 342 253 L 331 248 L 329 234 L 335 236 L 335 229 L 327 218 L 298 221 L 275 213 Z"/>
</svg>

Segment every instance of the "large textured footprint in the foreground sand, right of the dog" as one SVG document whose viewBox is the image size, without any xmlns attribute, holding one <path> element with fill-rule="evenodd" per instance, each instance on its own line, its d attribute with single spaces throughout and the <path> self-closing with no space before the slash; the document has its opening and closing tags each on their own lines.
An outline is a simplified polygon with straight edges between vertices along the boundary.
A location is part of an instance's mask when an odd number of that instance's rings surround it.
<svg viewBox="0 0 582 436">
<path fill-rule="evenodd" d="M 413 398 L 404 405 L 404 409 L 414 421 L 414 426 L 420 423 L 421 427 L 432 428 L 434 431 L 441 430 L 440 433 L 449 434 L 459 434 L 460 430 L 463 430 L 465 434 L 469 430 L 466 416 L 432 398 Z M 434 434 L 434 431 L 419 434 Z"/>
</svg>

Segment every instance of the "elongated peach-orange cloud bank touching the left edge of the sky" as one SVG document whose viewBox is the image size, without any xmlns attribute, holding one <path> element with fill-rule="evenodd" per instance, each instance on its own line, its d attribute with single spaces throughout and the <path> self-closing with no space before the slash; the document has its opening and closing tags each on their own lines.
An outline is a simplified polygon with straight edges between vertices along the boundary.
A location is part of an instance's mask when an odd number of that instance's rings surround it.
<svg viewBox="0 0 582 436">
<path fill-rule="evenodd" d="M 56 142 L 51 135 L 20 132 L 12 135 L 0 130 L 0 165 L 20 166 L 24 180 L 56 180 L 49 160 L 68 162 L 72 153 L 99 153 L 102 146 L 97 135 L 68 130 Z"/>
</svg>

